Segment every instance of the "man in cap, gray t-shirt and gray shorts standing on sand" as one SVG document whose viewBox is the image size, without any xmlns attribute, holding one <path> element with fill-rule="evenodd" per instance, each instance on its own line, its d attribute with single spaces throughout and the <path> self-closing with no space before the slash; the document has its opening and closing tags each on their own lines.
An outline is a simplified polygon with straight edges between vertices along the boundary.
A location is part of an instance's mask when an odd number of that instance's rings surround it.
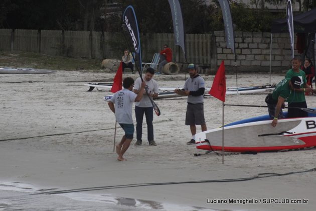
<svg viewBox="0 0 316 211">
<path fill-rule="evenodd" d="M 186 113 L 186 125 L 190 125 L 192 139 L 187 144 L 195 144 L 195 134 L 197 132 L 196 125 L 201 125 L 202 131 L 206 131 L 206 123 L 204 119 L 204 91 L 205 81 L 198 74 L 196 65 L 189 64 L 188 68 L 190 78 L 186 81 L 183 89 L 175 89 L 180 95 L 188 96 L 188 105 Z"/>
</svg>

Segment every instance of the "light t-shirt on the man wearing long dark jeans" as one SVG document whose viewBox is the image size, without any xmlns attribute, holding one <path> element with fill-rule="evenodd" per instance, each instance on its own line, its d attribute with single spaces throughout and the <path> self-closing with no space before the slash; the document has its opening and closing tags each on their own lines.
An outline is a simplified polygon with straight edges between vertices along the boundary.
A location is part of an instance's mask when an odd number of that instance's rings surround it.
<svg viewBox="0 0 316 211">
<path fill-rule="evenodd" d="M 146 83 L 145 88 L 147 89 L 148 94 L 158 93 L 159 92 L 158 84 L 157 84 L 157 82 L 154 79 L 151 78 L 149 81 L 146 81 L 144 79 L 144 81 Z M 141 86 L 141 78 L 138 77 L 135 80 L 134 89 L 137 89 L 139 91 L 140 86 Z M 150 98 L 152 99 L 152 97 L 150 97 Z M 142 107 L 142 108 L 152 107 L 152 104 L 151 104 L 150 99 L 147 96 L 146 92 L 144 92 L 141 100 L 139 102 L 136 102 L 135 105 L 138 106 L 138 107 Z"/>
</svg>

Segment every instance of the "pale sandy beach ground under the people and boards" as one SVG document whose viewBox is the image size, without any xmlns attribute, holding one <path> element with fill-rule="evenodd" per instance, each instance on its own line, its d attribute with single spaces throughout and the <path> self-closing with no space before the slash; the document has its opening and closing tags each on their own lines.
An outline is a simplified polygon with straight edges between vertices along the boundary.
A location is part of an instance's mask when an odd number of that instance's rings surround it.
<svg viewBox="0 0 316 211">
<path fill-rule="evenodd" d="M 284 74 L 272 74 L 271 83 Z M 316 172 L 300 171 L 316 167 L 316 150 L 229 155 L 224 164 L 215 153 L 195 157 L 204 151 L 186 144 L 192 138 L 184 123 L 186 97 L 156 100 L 162 113 L 153 118 L 157 146 L 148 145 L 144 124 L 143 145 L 135 147 L 133 140 L 127 161 L 116 161 L 115 117 L 103 99 L 111 92 L 87 92 L 83 85 L 113 77 L 79 71 L 0 75 L 0 210 L 314 210 Z M 203 77 L 211 86 L 214 75 Z M 227 87 L 235 87 L 236 75 L 226 77 Z M 160 86 L 178 87 L 185 74 L 154 79 Z M 269 84 L 268 73 L 238 74 L 239 87 L 264 84 Z M 265 96 L 227 95 L 226 103 L 265 105 Z M 316 96 L 306 96 L 306 102 L 316 107 Z M 207 128 L 220 127 L 222 102 L 207 96 L 204 109 Z M 224 121 L 264 114 L 266 108 L 225 107 Z M 116 143 L 122 135 L 118 126 Z M 217 181 L 289 172 L 297 173 Z M 202 180 L 214 181 L 106 188 Z M 45 194 L 62 190 L 74 191 Z"/>
</svg>

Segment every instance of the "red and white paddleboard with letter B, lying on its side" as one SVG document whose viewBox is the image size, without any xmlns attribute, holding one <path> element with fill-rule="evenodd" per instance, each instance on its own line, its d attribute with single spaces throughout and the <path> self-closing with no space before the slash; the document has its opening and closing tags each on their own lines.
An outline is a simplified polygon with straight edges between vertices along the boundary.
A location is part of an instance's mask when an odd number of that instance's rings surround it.
<svg viewBox="0 0 316 211">
<path fill-rule="evenodd" d="M 316 117 L 278 120 L 275 128 L 268 115 L 237 121 L 224 127 L 224 151 L 267 152 L 316 146 Z M 222 151 L 222 128 L 195 135 L 196 147 Z"/>
</svg>

